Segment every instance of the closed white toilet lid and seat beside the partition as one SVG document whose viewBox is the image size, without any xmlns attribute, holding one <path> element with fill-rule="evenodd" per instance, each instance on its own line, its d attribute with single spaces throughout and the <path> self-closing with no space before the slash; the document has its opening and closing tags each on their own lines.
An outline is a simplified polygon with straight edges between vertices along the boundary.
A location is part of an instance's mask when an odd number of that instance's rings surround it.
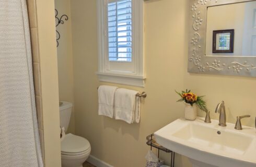
<svg viewBox="0 0 256 167">
<path fill-rule="evenodd" d="M 84 152 L 89 148 L 90 143 L 87 139 L 73 134 L 67 134 L 61 141 L 61 152 L 78 153 Z"/>
</svg>

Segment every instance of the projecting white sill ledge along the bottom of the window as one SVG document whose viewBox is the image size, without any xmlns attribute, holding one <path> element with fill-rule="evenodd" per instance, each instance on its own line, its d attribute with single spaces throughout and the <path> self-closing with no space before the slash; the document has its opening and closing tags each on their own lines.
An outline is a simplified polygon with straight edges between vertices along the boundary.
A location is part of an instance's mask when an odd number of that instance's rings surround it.
<svg viewBox="0 0 256 167">
<path fill-rule="evenodd" d="M 98 79 L 103 82 L 111 82 L 115 84 L 131 85 L 136 87 L 145 87 L 145 76 L 116 74 L 116 73 L 102 73 L 97 72 Z"/>
</svg>

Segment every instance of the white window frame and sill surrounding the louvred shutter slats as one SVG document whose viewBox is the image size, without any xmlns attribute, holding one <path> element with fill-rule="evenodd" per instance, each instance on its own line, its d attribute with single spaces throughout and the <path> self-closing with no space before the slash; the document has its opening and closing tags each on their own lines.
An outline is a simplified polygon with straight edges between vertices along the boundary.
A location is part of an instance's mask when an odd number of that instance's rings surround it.
<svg viewBox="0 0 256 167">
<path fill-rule="evenodd" d="M 109 61 L 107 9 L 108 0 L 97 0 L 98 79 L 116 84 L 144 87 L 146 77 L 143 56 L 143 0 L 132 0 L 132 62 Z M 114 69 L 111 69 L 110 66 L 112 67 L 113 64 Z"/>
</svg>

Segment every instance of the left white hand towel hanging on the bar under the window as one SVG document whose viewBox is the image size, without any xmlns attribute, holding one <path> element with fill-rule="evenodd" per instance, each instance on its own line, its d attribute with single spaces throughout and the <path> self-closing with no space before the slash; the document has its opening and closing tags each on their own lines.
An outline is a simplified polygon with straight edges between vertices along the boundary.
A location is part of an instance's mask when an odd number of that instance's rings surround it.
<svg viewBox="0 0 256 167">
<path fill-rule="evenodd" d="M 98 89 L 99 115 L 114 117 L 114 94 L 118 87 L 100 86 Z"/>
</svg>

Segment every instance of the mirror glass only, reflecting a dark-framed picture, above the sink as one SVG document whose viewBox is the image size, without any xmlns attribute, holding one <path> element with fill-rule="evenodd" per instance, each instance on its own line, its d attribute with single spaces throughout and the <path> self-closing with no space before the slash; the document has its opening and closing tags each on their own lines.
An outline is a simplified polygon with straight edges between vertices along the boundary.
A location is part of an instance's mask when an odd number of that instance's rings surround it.
<svg viewBox="0 0 256 167">
<path fill-rule="evenodd" d="M 256 2 L 207 8 L 205 55 L 256 56 Z"/>
</svg>

